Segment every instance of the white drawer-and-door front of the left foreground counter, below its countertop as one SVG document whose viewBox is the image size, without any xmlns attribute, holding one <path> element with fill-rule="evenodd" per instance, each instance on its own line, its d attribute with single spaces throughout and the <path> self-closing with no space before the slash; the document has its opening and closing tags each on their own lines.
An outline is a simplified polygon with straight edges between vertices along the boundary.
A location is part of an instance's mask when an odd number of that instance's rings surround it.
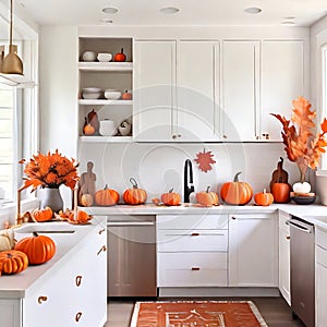
<svg viewBox="0 0 327 327">
<path fill-rule="evenodd" d="M 107 319 L 105 228 L 87 235 L 75 255 L 23 299 L 23 327 L 102 326 Z"/>
</svg>

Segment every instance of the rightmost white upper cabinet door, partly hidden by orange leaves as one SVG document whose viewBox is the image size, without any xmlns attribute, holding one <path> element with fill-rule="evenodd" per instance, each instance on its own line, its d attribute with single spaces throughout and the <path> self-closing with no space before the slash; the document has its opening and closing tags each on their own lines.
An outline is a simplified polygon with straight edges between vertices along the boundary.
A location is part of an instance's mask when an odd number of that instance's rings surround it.
<svg viewBox="0 0 327 327">
<path fill-rule="evenodd" d="M 281 140 L 281 124 L 269 113 L 290 118 L 292 100 L 305 96 L 304 45 L 302 40 L 264 41 L 262 73 L 262 133 Z"/>
</svg>

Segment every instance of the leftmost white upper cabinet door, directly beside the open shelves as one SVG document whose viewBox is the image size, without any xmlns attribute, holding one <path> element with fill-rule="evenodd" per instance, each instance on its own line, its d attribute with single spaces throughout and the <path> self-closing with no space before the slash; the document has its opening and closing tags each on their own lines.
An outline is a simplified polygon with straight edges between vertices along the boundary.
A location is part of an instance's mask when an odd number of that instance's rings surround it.
<svg viewBox="0 0 327 327">
<path fill-rule="evenodd" d="M 135 41 L 134 135 L 171 141 L 175 135 L 175 41 Z"/>
</svg>

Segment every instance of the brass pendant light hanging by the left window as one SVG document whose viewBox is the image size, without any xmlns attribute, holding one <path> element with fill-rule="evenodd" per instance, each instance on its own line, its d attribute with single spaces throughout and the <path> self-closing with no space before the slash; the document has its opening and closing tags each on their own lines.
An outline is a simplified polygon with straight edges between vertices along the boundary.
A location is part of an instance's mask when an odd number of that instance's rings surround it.
<svg viewBox="0 0 327 327">
<path fill-rule="evenodd" d="M 12 44 L 12 1 L 10 0 L 10 39 L 9 39 L 9 53 L 2 61 L 1 72 L 3 74 L 19 74 L 23 75 L 23 62 L 17 56 L 17 47 Z"/>
</svg>

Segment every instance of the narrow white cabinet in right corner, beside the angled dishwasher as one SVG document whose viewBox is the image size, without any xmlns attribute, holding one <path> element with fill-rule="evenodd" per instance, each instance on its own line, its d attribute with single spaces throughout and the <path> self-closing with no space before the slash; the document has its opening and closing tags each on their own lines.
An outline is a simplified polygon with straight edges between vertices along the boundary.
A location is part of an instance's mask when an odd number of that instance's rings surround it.
<svg viewBox="0 0 327 327">
<path fill-rule="evenodd" d="M 288 214 L 279 213 L 279 291 L 291 305 L 290 227 L 286 223 L 288 219 Z"/>
</svg>

